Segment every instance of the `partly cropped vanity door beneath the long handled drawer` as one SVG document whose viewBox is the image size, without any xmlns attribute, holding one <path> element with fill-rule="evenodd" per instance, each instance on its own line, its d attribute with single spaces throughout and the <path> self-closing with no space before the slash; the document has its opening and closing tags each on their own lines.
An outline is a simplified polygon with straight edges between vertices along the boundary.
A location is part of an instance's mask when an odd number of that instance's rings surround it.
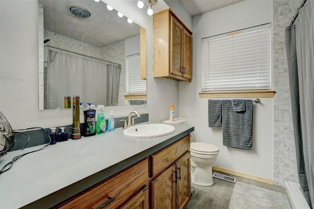
<svg viewBox="0 0 314 209">
<path fill-rule="evenodd" d="M 149 190 L 148 186 L 143 188 L 131 200 L 124 204 L 120 209 L 149 209 Z"/>
</svg>

